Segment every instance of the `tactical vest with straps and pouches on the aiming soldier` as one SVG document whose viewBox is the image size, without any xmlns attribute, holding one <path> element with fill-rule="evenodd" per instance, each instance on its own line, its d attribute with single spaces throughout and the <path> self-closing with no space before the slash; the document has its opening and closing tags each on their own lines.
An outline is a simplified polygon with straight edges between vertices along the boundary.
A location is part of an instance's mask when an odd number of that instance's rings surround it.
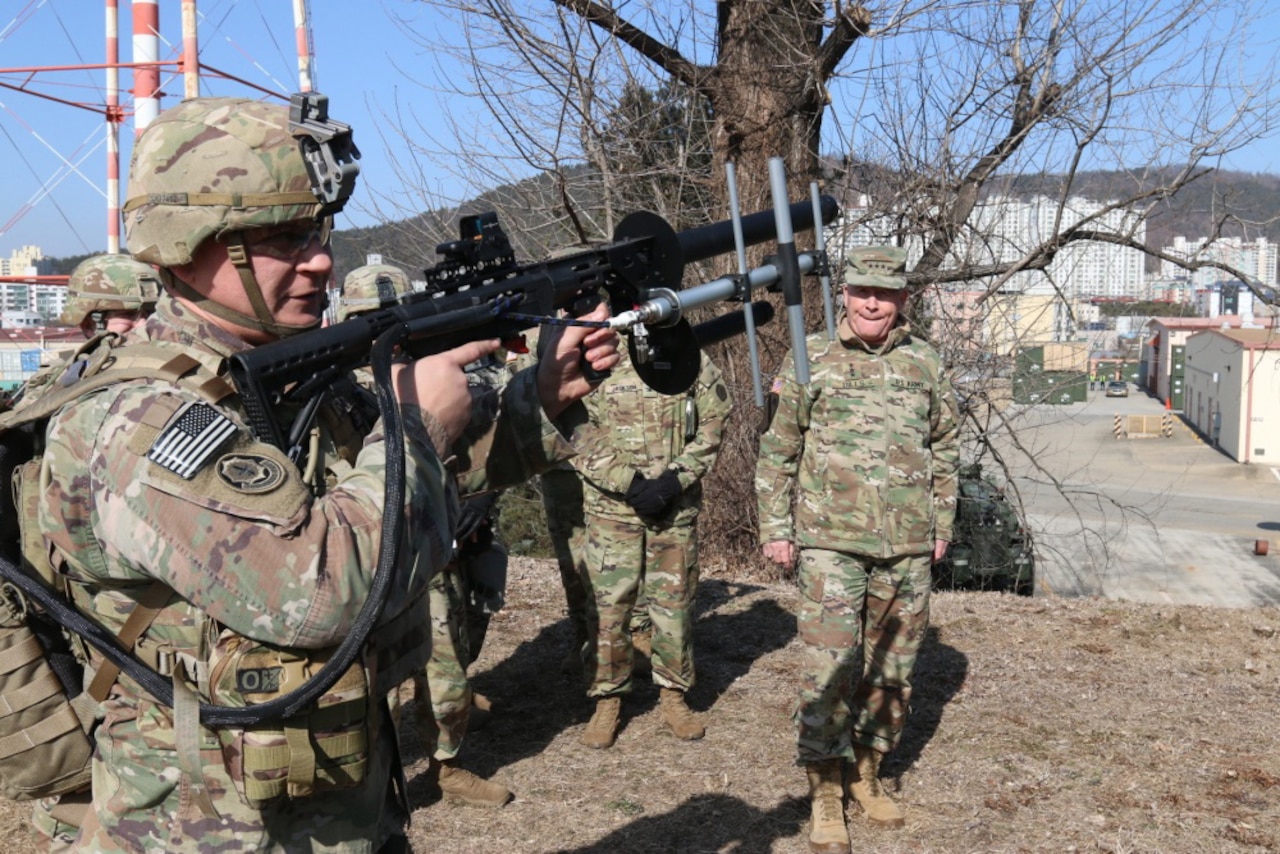
<svg viewBox="0 0 1280 854">
<path fill-rule="evenodd" d="M 234 394 L 225 379 L 189 355 L 146 342 L 123 348 L 113 347 L 110 341 L 105 344 L 91 352 L 82 350 L 78 353 L 79 367 L 64 388 L 47 388 L 37 399 L 24 401 L 19 412 L 0 419 L 0 429 L 18 423 L 47 420 L 63 406 L 88 393 L 137 379 L 168 382 L 214 405 L 225 402 Z M 335 439 L 343 443 L 357 440 L 358 437 L 353 435 Z M 314 455 L 312 460 L 319 456 Z M 315 471 L 310 474 L 315 475 Z M 37 574 L 46 585 L 64 593 L 81 612 L 108 627 L 119 626 L 120 641 L 132 648 L 147 667 L 173 680 L 172 722 L 183 786 L 196 805 L 206 814 L 215 816 L 201 775 L 200 741 L 204 727 L 198 722 L 198 703 L 204 700 L 227 707 L 250 707 L 271 700 L 307 681 L 324 666 L 332 650 L 284 649 L 250 640 L 210 620 L 159 581 L 119 585 L 100 580 L 92 584 L 69 581 L 58 571 L 61 561 L 56 551 L 50 553 L 37 526 L 31 524 L 46 479 L 47 467 L 38 455 L 24 463 L 14 478 L 14 495 L 22 508 L 20 520 L 27 522 L 22 525 L 22 554 L 28 570 Z M 314 488 L 324 490 L 324 472 L 315 479 Z M 163 640 L 147 634 L 152 625 L 164 626 Z M 390 634 L 399 641 L 393 644 L 396 649 L 375 652 L 383 658 L 397 659 L 401 668 L 420 668 L 429 652 L 429 640 L 415 632 Z M 379 640 L 383 639 L 379 634 Z M 3 656 L 0 653 L 0 659 Z M 84 663 L 91 661 L 87 649 L 79 649 L 79 657 Z M 366 658 L 372 662 L 378 656 L 370 654 Z M 91 729 L 96 704 L 108 695 L 116 679 L 128 679 L 111 662 L 97 656 L 93 659 L 101 663 L 86 691 L 91 700 L 81 698 L 76 702 L 78 735 L 83 741 L 87 741 L 86 734 Z M 0 663 L 0 672 L 3 670 L 4 665 Z M 243 803 L 261 808 L 284 796 L 303 798 L 362 782 L 369 761 L 370 722 L 374 717 L 370 704 L 380 702 L 385 695 L 380 693 L 385 682 L 371 690 L 370 676 L 365 663 L 357 661 L 302 714 L 243 729 L 216 729 L 223 754 L 237 759 L 228 762 L 227 771 Z M 145 697 L 136 685 L 131 689 L 134 695 Z M 72 700 L 65 702 L 74 708 Z M 0 753 L 3 734 L 0 729 Z M 68 729 L 65 735 L 70 734 Z M 69 762 L 81 762 L 79 752 Z M 84 776 L 76 776 L 79 785 L 87 782 L 87 768 L 86 753 L 82 768 Z M 72 791 L 74 787 L 67 785 L 58 791 Z M 42 791 L 32 796 L 45 794 L 56 791 Z"/>
</svg>

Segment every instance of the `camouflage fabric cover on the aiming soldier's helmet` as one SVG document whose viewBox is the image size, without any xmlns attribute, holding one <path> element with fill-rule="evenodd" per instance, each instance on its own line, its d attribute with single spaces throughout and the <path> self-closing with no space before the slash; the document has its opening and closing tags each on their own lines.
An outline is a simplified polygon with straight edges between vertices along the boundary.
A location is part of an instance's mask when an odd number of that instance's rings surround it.
<svg viewBox="0 0 1280 854">
<path fill-rule="evenodd" d="M 134 257 L 191 261 L 209 237 L 315 219 L 323 204 L 289 108 L 250 99 L 191 99 L 161 113 L 129 163 L 124 229 Z"/>
</svg>

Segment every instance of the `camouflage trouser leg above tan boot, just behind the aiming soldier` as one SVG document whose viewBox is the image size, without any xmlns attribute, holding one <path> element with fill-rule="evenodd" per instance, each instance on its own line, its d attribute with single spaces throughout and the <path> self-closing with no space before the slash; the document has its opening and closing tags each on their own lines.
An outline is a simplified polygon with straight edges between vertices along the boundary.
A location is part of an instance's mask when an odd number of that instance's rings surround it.
<svg viewBox="0 0 1280 854">
<path fill-rule="evenodd" d="M 463 572 L 457 562 L 436 572 L 428 585 L 431 657 L 413 679 L 413 695 L 422 741 L 440 761 L 458 755 L 471 716 L 466 600 Z"/>
</svg>

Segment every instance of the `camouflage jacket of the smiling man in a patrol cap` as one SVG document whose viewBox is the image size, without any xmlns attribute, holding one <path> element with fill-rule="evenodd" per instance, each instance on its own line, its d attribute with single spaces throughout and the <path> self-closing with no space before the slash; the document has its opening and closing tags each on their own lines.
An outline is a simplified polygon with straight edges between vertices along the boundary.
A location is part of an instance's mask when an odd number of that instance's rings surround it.
<svg viewBox="0 0 1280 854">
<path fill-rule="evenodd" d="M 847 319 L 808 346 L 812 382 L 787 356 L 760 437 L 760 542 L 895 557 L 950 540 L 959 423 L 937 352 L 905 325 L 872 348 Z"/>
</svg>

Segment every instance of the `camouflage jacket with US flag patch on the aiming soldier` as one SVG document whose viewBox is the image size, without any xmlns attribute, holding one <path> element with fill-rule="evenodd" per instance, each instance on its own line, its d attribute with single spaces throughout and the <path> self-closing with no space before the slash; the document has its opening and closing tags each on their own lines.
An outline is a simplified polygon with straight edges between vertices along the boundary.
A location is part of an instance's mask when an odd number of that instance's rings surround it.
<svg viewBox="0 0 1280 854">
<path fill-rule="evenodd" d="M 172 347 L 211 373 L 244 347 L 169 298 L 133 341 Z M 381 421 L 361 437 L 323 412 L 320 462 L 306 481 L 251 437 L 234 399 L 211 406 L 168 382 L 140 380 L 84 396 L 50 420 L 49 485 L 36 521 L 77 607 L 118 631 L 154 579 L 174 592 L 138 644 L 145 659 L 145 649 L 174 649 L 198 661 L 211 635 L 227 631 L 323 656 L 351 632 L 369 595 L 383 524 Z M 504 402 L 509 423 L 492 442 L 503 453 L 477 458 L 477 479 L 513 483 L 570 453 L 543 415 L 532 378 L 517 378 Z M 156 451 L 191 412 L 202 419 L 196 429 L 224 425 L 228 433 L 207 456 L 179 453 L 182 467 Z M 419 613 L 413 606 L 430 575 L 451 554 L 457 511 L 421 414 L 406 407 L 404 416 L 404 571 L 383 625 Z M 371 668 L 384 634 L 374 632 Z M 201 727 L 198 761 L 220 814 L 214 819 L 184 809 L 170 709 L 120 677 L 99 714 L 93 812 L 101 828 L 82 841 L 102 850 L 195 851 L 230 839 L 253 850 L 369 851 L 404 819 L 388 796 L 394 739 L 376 721 L 361 784 L 264 808 L 237 794 L 239 743 Z"/>
</svg>

